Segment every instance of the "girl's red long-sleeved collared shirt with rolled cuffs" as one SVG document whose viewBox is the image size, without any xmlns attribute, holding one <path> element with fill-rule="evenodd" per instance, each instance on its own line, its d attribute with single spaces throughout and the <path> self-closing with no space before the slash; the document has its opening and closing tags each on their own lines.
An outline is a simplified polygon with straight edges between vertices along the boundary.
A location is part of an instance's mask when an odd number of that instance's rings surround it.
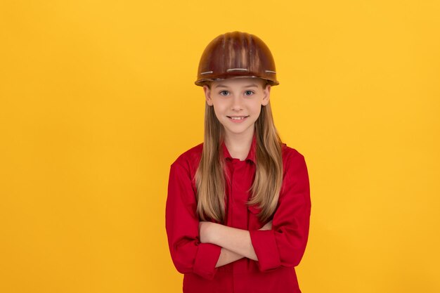
<svg viewBox="0 0 440 293">
<path fill-rule="evenodd" d="M 226 225 L 250 231 L 258 261 L 243 257 L 216 268 L 221 247 L 201 243 L 198 233 L 195 171 L 203 143 L 183 152 L 171 165 L 165 226 L 169 251 L 183 273 L 183 293 L 300 293 L 298 266 L 309 237 L 309 176 L 304 156 L 283 143 L 283 186 L 273 214 L 272 230 L 258 230 L 258 207 L 247 207 L 246 190 L 255 174 L 256 137 L 244 161 L 231 157 L 222 143 L 231 183 L 226 183 Z M 227 181 L 227 180 L 226 180 Z"/>
</svg>

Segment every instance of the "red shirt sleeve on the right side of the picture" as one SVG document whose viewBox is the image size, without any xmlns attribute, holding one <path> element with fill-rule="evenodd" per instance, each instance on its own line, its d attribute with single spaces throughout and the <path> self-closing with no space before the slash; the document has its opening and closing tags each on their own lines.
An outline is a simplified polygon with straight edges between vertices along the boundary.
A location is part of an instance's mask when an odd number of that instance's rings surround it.
<svg viewBox="0 0 440 293">
<path fill-rule="evenodd" d="M 311 211 L 309 175 L 304 156 L 295 152 L 287 158 L 283 188 L 271 230 L 250 230 L 259 271 L 297 266 L 309 237 Z"/>
</svg>

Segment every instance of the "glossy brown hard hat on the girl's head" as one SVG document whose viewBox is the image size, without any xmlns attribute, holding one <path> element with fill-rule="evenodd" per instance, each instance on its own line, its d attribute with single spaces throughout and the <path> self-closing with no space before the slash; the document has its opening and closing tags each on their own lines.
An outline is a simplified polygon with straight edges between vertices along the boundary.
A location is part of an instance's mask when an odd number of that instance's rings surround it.
<svg viewBox="0 0 440 293">
<path fill-rule="evenodd" d="M 271 86 L 280 84 L 268 46 L 247 32 L 227 32 L 213 39 L 202 53 L 195 84 L 231 77 L 259 77 Z"/>
</svg>

